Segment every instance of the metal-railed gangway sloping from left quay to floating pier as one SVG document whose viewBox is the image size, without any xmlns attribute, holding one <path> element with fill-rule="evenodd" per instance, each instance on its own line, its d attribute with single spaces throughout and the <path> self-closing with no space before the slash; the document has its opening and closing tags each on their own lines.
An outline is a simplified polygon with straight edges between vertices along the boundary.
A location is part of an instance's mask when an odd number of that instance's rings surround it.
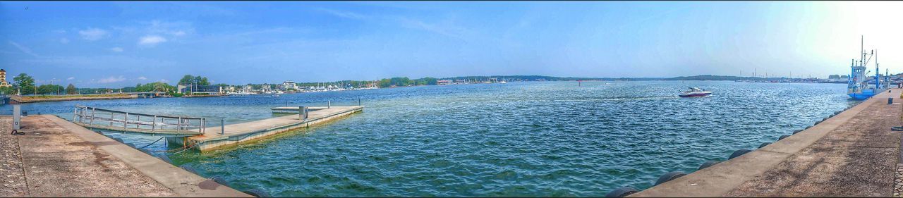
<svg viewBox="0 0 903 198">
<path fill-rule="evenodd" d="M 81 105 L 75 106 L 72 122 L 104 130 L 160 134 L 203 134 L 207 128 L 205 118 L 120 112 Z"/>
</svg>

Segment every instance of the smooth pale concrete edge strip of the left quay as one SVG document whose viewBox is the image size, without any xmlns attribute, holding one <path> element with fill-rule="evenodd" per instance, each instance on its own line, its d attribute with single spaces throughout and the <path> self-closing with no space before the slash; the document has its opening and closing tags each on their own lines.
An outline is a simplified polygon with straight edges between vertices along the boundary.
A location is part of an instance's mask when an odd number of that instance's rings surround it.
<svg viewBox="0 0 903 198">
<path fill-rule="evenodd" d="M 103 149 L 110 156 L 121 159 L 128 166 L 135 168 L 142 174 L 154 179 L 154 181 L 163 184 L 172 192 L 179 196 L 192 197 L 251 197 L 247 193 L 241 193 L 225 185 L 216 184 L 211 180 L 200 177 L 200 175 L 192 174 L 182 168 L 173 166 L 163 160 L 150 156 L 135 148 L 131 148 L 114 139 L 99 134 L 93 130 L 85 129 L 70 121 L 65 121 L 59 117 L 52 115 L 33 115 L 42 116 L 52 121 L 66 130 L 70 130 L 73 134 L 85 141 L 92 142 L 98 148 Z M 98 143 L 98 142 L 103 142 Z M 203 183 L 202 185 L 199 185 Z M 75 195 L 75 194 L 73 194 Z"/>
</svg>

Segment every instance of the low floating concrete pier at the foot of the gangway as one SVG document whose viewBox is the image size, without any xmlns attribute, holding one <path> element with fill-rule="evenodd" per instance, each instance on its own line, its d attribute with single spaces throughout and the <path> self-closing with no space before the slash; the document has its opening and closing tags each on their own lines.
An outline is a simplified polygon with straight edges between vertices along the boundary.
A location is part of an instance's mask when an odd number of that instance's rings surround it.
<svg viewBox="0 0 903 198">
<path fill-rule="evenodd" d="M 297 110 L 297 107 L 294 109 Z M 201 152 L 217 148 L 234 147 L 286 131 L 334 121 L 355 112 L 364 111 L 364 106 L 311 107 L 310 109 L 315 111 L 310 111 L 306 120 L 299 119 L 300 116 L 298 114 L 286 115 L 260 121 L 229 124 L 223 130 L 210 128 L 200 136 L 188 138 L 172 137 L 167 138 L 167 141 L 173 145 L 188 144 L 185 146 L 193 147 Z"/>
</svg>

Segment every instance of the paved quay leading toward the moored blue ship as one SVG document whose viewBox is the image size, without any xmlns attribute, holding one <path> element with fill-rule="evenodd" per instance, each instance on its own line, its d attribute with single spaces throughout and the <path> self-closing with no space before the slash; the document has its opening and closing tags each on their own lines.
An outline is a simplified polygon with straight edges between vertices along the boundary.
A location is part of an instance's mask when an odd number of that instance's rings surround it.
<svg viewBox="0 0 903 198">
<path fill-rule="evenodd" d="M 878 94 L 786 139 L 629 196 L 899 196 L 901 136 L 890 130 L 903 123 L 899 95 Z"/>
</svg>

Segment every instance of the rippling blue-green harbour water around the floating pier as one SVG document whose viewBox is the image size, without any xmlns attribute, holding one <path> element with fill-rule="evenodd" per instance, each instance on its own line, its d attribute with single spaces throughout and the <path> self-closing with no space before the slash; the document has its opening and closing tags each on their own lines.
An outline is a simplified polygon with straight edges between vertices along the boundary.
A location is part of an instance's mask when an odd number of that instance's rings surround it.
<svg viewBox="0 0 903 198">
<path fill-rule="evenodd" d="M 675 95 L 687 86 L 714 91 Z M 357 104 L 362 113 L 220 152 L 172 155 L 200 175 L 275 196 L 602 196 L 694 172 L 855 105 L 845 85 L 726 81 L 512 82 L 349 92 L 24 104 L 71 118 L 76 103 L 207 117 L 275 116 L 270 107 Z M 0 111 L 10 112 L 9 105 Z M 217 127 L 216 129 L 218 129 Z M 135 145 L 159 137 L 120 134 Z M 163 141 L 150 147 L 163 150 Z M 158 153 L 163 153 L 158 151 Z"/>
</svg>

